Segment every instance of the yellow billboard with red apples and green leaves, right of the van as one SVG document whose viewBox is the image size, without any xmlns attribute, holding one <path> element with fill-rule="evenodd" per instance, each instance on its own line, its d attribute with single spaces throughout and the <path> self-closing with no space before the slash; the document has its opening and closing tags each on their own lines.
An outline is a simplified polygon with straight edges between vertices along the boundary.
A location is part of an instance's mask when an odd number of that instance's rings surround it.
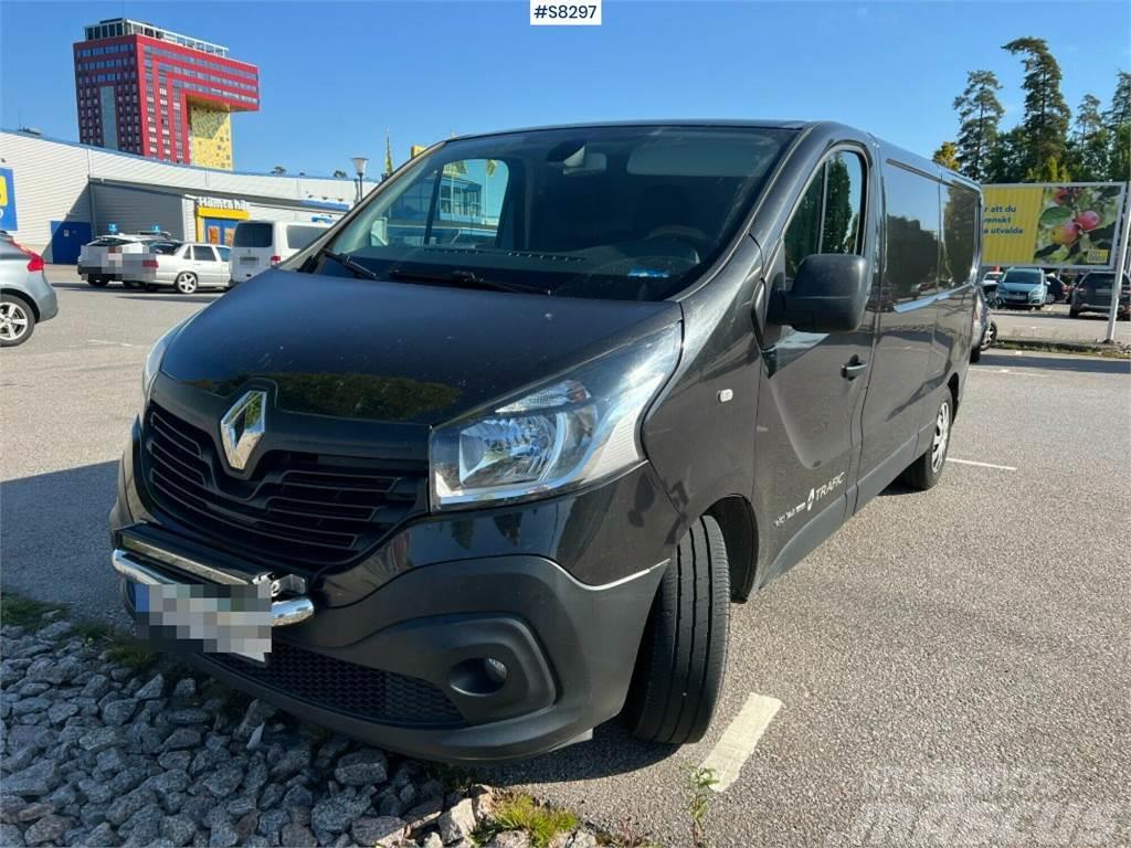
<svg viewBox="0 0 1131 848">
<path fill-rule="evenodd" d="M 983 185 L 983 265 L 1110 268 L 1126 183 Z"/>
</svg>

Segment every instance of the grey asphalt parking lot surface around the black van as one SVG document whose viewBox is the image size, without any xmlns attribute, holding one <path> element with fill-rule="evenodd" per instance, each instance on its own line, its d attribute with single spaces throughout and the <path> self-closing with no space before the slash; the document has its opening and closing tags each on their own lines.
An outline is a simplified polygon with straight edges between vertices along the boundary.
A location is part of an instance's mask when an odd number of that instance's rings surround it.
<svg viewBox="0 0 1131 848">
<path fill-rule="evenodd" d="M 60 317 L 0 355 L 3 587 L 122 623 L 106 512 L 141 363 L 218 295 L 52 279 Z M 705 796 L 719 847 L 1131 842 L 1129 371 L 984 355 L 940 485 L 889 490 L 735 608 L 701 743 L 611 722 L 476 776 L 665 846 L 691 843 L 703 763 L 733 778 Z"/>
</svg>

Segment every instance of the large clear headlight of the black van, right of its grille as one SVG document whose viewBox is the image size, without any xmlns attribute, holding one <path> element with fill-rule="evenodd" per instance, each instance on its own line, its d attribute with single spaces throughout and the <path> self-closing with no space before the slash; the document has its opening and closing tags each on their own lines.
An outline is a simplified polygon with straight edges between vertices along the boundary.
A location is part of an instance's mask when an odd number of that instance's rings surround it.
<svg viewBox="0 0 1131 848">
<path fill-rule="evenodd" d="M 515 501 L 642 461 L 639 424 L 675 370 L 680 328 L 621 347 L 432 432 L 432 505 Z"/>
</svg>

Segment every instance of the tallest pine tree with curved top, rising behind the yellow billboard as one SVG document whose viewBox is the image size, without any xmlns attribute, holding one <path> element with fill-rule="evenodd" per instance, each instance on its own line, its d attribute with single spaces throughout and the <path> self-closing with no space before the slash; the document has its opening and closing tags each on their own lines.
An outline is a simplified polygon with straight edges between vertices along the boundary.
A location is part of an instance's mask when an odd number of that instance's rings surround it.
<svg viewBox="0 0 1131 848">
<path fill-rule="evenodd" d="M 1061 94 L 1061 69 L 1044 38 L 1015 38 L 1003 50 L 1022 57 L 1025 115 L 1020 126 L 1026 174 L 1048 173 L 1056 161 L 1063 168 L 1071 112 Z"/>
</svg>

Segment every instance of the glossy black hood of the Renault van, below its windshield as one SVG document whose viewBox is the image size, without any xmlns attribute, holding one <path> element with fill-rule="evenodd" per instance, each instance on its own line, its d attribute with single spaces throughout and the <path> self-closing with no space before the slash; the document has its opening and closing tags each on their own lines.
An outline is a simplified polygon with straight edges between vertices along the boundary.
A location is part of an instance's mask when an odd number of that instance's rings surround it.
<svg viewBox="0 0 1131 848">
<path fill-rule="evenodd" d="M 249 382 L 288 412 L 441 424 L 680 320 L 676 303 L 551 297 L 269 270 L 176 335 L 167 378 Z"/>
</svg>

